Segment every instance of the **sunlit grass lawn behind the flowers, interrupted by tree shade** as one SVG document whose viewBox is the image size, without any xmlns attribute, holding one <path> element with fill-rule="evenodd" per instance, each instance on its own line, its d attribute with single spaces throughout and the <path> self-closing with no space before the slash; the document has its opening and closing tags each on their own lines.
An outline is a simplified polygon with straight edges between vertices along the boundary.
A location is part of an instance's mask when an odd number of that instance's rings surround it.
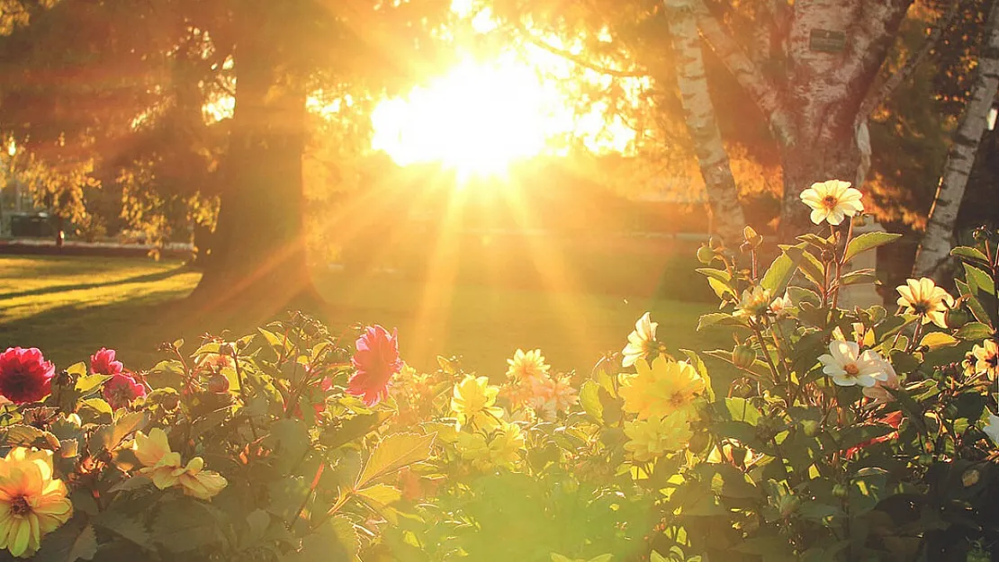
<svg viewBox="0 0 999 562">
<path fill-rule="evenodd" d="M 176 262 L 0 257 L 0 347 L 40 347 L 67 366 L 105 345 L 141 368 L 155 362 L 162 340 L 183 335 L 195 342 L 209 329 L 252 327 L 178 314 L 199 279 L 198 272 Z M 320 317 L 334 327 L 357 321 L 398 326 L 404 357 L 423 368 L 432 367 L 437 354 L 458 354 L 467 366 L 497 376 L 515 348 L 540 347 L 555 369 L 587 369 L 604 350 L 623 346 L 646 309 L 671 348 L 730 345 L 721 331 L 694 330 L 697 316 L 711 308 L 700 302 L 463 283 L 446 287 L 389 275 L 359 279 L 328 273 L 318 276 L 317 284 L 329 300 Z"/>
</svg>

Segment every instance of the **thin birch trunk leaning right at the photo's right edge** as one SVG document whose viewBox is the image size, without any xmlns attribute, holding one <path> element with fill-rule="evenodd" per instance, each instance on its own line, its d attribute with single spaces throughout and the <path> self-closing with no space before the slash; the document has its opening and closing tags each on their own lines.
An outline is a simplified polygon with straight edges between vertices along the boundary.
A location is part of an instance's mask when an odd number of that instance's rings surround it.
<svg viewBox="0 0 999 562">
<path fill-rule="evenodd" d="M 985 134 L 989 109 L 996 90 L 999 89 L 999 2 L 994 3 L 989 10 L 986 25 L 985 42 L 978 58 L 977 77 L 971 89 L 971 98 L 954 132 L 947 164 L 930 209 L 926 232 L 916 251 L 916 262 L 912 268 L 912 275 L 916 278 L 940 276 L 942 270 L 945 270 L 941 266 L 950 259 L 957 212 L 964 199 L 964 190 L 968 185 L 971 167 L 975 163 L 978 145 Z"/>
</svg>

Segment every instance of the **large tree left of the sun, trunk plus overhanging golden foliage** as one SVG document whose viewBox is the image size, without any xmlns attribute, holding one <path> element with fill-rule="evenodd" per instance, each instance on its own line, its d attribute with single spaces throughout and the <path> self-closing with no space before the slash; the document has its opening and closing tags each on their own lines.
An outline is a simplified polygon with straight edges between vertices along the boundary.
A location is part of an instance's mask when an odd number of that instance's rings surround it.
<svg viewBox="0 0 999 562">
<path fill-rule="evenodd" d="M 367 0 L 31 6 L 30 23 L 0 43 L 8 79 L 0 114 L 11 110 L 0 128 L 26 142 L 58 133 L 67 147 L 107 158 L 130 142 L 137 122 L 155 122 L 179 103 L 185 90 L 169 86 L 181 55 L 196 55 L 196 72 L 184 79 L 201 85 L 200 105 L 235 77 L 213 258 L 196 296 L 274 308 L 314 295 L 302 220 L 308 97 L 344 85 L 377 93 L 411 80 L 433 55 L 430 34 L 448 11 L 443 2 Z M 76 80 L 45 80 L 56 72 Z M 121 103 L 108 103 L 116 96 Z"/>
</svg>

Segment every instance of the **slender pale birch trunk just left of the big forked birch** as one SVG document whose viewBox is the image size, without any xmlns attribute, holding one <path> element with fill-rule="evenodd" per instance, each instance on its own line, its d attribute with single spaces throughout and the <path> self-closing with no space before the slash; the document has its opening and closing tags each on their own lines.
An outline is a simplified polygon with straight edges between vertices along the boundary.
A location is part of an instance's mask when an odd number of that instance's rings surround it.
<svg viewBox="0 0 999 562">
<path fill-rule="evenodd" d="M 687 0 L 665 0 L 669 33 L 676 57 L 676 82 L 680 90 L 687 131 L 693 141 L 700 174 L 718 236 L 735 243 L 745 226 L 728 154 L 721 142 L 714 104 L 707 89 L 700 37 L 692 5 Z"/>
</svg>

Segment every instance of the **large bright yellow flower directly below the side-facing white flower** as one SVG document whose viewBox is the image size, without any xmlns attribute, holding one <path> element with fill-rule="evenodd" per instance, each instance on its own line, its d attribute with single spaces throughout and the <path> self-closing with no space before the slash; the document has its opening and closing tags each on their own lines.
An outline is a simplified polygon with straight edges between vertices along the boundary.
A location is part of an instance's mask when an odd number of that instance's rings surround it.
<svg viewBox="0 0 999 562">
<path fill-rule="evenodd" d="M 674 411 L 689 412 L 693 399 L 704 391 L 704 379 L 686 361 L 658 356 L 651 366 L 644 359 L 635 363 L 637 374 L 621 374 L 624 411 L 638 418 L 661 417 Z"/>
</svg>

